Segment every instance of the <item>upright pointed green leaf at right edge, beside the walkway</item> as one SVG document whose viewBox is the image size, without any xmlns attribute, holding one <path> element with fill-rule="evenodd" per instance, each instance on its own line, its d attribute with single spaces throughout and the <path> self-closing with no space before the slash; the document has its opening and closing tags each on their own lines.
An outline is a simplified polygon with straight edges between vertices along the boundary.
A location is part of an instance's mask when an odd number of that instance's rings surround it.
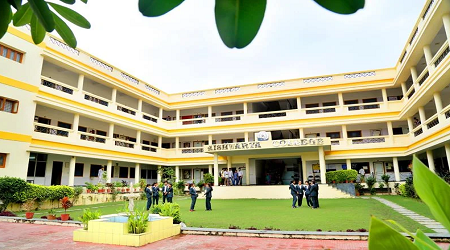
<svg viewBox="0 0 450 250">
<path fill-rule="evenodd" d="M 434 218 L 450 230 L 450 185 L 431 172 L 417 157 L 413 159 L 414 187 Z"/>
</svg>

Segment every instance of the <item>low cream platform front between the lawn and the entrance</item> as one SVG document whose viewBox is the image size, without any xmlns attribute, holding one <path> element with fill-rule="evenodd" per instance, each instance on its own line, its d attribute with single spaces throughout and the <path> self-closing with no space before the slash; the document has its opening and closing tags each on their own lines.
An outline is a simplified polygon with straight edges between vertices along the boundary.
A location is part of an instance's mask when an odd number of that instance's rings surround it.
<svg viewBox="0 0 450 250">
<path fill-rule="evenodd" d="M 213 199 L 291 199 L 288 185 L 267 186 L 215 186 Z M 199 195 L 203 198 L 203 195 Z M 319 199 L 352 198 L 327 184 L 319 184 Z"/>
</svg>

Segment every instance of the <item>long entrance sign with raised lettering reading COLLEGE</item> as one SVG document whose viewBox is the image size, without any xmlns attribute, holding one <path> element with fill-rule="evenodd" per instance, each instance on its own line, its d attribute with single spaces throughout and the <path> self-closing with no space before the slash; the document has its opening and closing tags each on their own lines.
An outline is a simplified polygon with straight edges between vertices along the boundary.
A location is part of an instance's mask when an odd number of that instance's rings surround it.
<svg viewBox="0 0 450 250">
<path fill-rule="evenodd" d="M 298 151 L 309 151 L 307 148 L 316 147 L 330 147 L 331 141 L 329 137 L 321 138 L 305 138 L 305 139 L 286 139 L 286 140 L 267 140 L 267 141 L 254 141 L 254 142 L 237 142 L 237 143 L 225 143 L 225 144 L 214 144 L 207 145 L 203 147 L 205 153 L 220 153 L 224 155 L 230 155 L 231 152 L 239 153 L 240 151 L 245 151 L 245 153 L 266 153 L 265 151 L 270 151 L 271 153 L 290 153 Z M 303 150 L 302 150 L 303 149 Z M 254 152 L 248 152 L 254 151 Z M 262 151 L 262 152 L 259 152 Z M 263 152 L 264 151 L 264 152 Z M 244 153 L 244 152 L 240 152 Z"/>
</svg>

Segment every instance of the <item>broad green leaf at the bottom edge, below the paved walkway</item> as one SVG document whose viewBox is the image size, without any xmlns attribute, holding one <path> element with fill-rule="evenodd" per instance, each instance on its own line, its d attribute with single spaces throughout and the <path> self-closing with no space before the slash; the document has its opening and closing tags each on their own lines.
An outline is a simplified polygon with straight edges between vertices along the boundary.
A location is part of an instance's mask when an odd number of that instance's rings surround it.
<svg viewBox="0 0 450 250">
<path fill-rule="evenodd" d="M 372 216 L 369 229 L 369 249 L 371 250 L 418 250 L 408 238 Z"/>
</svg>

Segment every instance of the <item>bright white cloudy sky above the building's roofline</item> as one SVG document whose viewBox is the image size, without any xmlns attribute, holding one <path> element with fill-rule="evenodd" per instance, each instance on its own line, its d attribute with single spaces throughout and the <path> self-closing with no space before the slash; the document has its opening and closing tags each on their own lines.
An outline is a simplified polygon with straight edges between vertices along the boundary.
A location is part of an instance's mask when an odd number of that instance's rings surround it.
<svg viewBox="0 0 450 250">
<path fill-rule="evenodd" d="M 229 49 L 213 0 L 186 0 L 142 16 L 138 0 L 91 0 L 74 9 L 78 47 L 168 93 L 394 67 L 425 0 L 367 0 L 353 15 L 313 0 L 268 0 L 253 42 Z"/>
</svg>

